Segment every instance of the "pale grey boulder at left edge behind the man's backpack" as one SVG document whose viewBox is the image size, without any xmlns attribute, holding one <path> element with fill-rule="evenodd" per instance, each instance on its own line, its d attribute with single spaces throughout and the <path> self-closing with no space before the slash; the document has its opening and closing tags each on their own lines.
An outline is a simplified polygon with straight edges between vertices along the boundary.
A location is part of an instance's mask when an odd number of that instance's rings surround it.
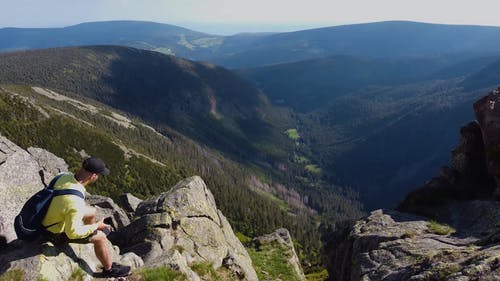
<svg viewBox="0 0 500 281">
<path fill-rule="evenodd" d="M 26 200 L 47 179 L 67 169 L 64 160 L 54 154 L 35 148 L 26 151 L 0 135 L 0 240 L 16 239 L 14 217 Z"/>
</svg>

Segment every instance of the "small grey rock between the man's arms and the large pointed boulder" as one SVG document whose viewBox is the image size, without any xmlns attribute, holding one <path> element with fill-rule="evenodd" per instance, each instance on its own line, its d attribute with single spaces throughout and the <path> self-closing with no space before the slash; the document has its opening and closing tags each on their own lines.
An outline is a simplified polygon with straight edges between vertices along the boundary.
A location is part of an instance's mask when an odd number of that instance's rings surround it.
<svg viewBox="0 0 500 281">
<path fill-rule="evenodd" d="M 111 217 L 111 226 L 116 230 L 130 224 L 125 213 L 111 198 L 87 194 L 85 201 L 97 209 L 96 220 Z"/>
</svg>

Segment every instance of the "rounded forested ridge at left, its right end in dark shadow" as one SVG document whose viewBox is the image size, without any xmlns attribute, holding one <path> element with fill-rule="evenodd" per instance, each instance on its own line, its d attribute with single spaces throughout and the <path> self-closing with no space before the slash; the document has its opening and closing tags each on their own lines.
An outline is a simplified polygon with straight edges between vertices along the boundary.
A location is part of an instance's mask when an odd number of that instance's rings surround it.
<svg viewBox="0 0 500 281">
<path fill-rule="evenodd" d="M 273 163 L 292 144 L 282 133 L 291 119 L 249 82 L 157 52 L 101 46 L 5 53 L 0 82 L 95 99 L 249 161 Z"/>
</svg>

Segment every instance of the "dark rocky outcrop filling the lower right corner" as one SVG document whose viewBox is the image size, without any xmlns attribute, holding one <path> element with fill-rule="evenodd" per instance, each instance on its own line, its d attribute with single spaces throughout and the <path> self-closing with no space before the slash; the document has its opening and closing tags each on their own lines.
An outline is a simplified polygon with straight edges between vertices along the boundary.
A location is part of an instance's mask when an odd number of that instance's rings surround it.
<svg viewBox="0 0 500 281">
<path fill-rule="evenodd" d="M 395 210 L 339 226 L 332 280 L 500 280 L 500 91 L 474 105 L 451 166 Z"/>
</svg>

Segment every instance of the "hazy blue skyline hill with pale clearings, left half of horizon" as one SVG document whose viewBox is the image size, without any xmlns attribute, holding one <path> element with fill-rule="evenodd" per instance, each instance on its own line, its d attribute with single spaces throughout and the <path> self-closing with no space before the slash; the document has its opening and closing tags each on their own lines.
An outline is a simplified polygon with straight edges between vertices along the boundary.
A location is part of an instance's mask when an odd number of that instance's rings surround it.
<svg viewBox="0 0 500 281">
<path fill-rule="evenodd" d="M 175 25 L 143 21 L 89 22 L 64 28 L 2 28 L 3 51 L 82 45 L 125 45 L 190 57 L 220 44 L 222 38 Z"/>
</svg>

